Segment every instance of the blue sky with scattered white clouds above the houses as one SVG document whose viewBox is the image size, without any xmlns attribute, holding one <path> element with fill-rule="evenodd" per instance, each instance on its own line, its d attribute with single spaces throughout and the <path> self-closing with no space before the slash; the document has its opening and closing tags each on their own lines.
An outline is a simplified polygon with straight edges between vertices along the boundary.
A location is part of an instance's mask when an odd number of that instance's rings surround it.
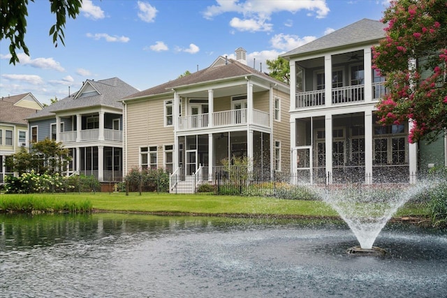
<svg viewBox="0 0 447 298">
<path fill-rule="evenodd" d="M 77 91 L 86 79 L 119 77 L 144 90 L 219 55 L 247 50 L 247 64 L 268 72 L 266 59 L 293 50 L 362 18 L 380 20 L 388 0 L 83 0 L 68 19 L 65 46 L 48 35 L 55 17 L 50 1 L 28 6 L 25 43 L 9 64 L 0 41 L 0 96 L 31 92 L 41 103 Z"/>
</svg>

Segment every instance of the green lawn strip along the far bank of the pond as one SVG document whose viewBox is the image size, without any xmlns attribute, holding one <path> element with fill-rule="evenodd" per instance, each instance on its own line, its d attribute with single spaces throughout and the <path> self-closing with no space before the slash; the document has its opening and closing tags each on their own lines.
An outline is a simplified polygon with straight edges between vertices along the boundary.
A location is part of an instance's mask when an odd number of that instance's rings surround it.
<svg viewBox="0 0 447 298">
<path fill-rule="evenodd" d="M 223 195 L 110 195 L 108 193 L 70 193 L 0 195 L 0 211 L 105 211 L 203 214 L 235 216 L 337 216 L 321 201 Z M 427 216 L 423 204 L 406 204 L 396 216 Z"/>
</svg>

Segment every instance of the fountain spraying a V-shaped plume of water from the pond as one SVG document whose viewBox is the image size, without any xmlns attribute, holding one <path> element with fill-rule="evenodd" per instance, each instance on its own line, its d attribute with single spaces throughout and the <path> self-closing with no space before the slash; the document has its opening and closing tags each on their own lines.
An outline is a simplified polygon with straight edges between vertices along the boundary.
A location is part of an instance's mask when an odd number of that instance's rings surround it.
<svg viewBox="0 0 447 298">
<path fill-rule="evenodd" d="M 349 248 L 348 253 L 385 255 L 385 249 L 373 246 L 376 237 L 397 209 L 426 188 L 423 183 L 333 185 L 325 188 L 322 197 L 349 225 L 360 243 Z"/>
</svg>

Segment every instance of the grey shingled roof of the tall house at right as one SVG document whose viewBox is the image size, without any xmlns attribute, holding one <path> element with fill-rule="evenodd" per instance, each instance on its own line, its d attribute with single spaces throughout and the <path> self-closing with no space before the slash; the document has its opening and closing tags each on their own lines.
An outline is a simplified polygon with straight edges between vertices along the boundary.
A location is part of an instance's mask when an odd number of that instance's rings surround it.
<svg viewBox="0 0 447 298">
<path fill-rule="evenodd" d="M 356 45 L 362 43 L 375 43 L 385 37 L 386 24 L 376 20 L 363 19 L 348 26 L 333 31 L 328 35 L 306 43 L 301 47 L 281 54 L 281 57 L 288 58 L 295 55 L 308 54 L 310 52 L 330 50 L 346 45 Z"/>
</svg>

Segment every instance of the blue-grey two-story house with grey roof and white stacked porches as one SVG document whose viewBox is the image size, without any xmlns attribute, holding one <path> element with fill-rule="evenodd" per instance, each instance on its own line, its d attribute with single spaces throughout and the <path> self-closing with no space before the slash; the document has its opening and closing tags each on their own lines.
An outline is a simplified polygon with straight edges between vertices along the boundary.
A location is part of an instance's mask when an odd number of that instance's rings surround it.
<svg viewBox="0 0 447 298">
<path fill-rule="evenodd" d="M 86 80 L 75 94 L 28 117 L 30 142 L 62 142 L 72 157 L 67 174 L 120 181 L 123 121 L 120 98 L 138 92 L 118 77 Z"/>
</svg>

